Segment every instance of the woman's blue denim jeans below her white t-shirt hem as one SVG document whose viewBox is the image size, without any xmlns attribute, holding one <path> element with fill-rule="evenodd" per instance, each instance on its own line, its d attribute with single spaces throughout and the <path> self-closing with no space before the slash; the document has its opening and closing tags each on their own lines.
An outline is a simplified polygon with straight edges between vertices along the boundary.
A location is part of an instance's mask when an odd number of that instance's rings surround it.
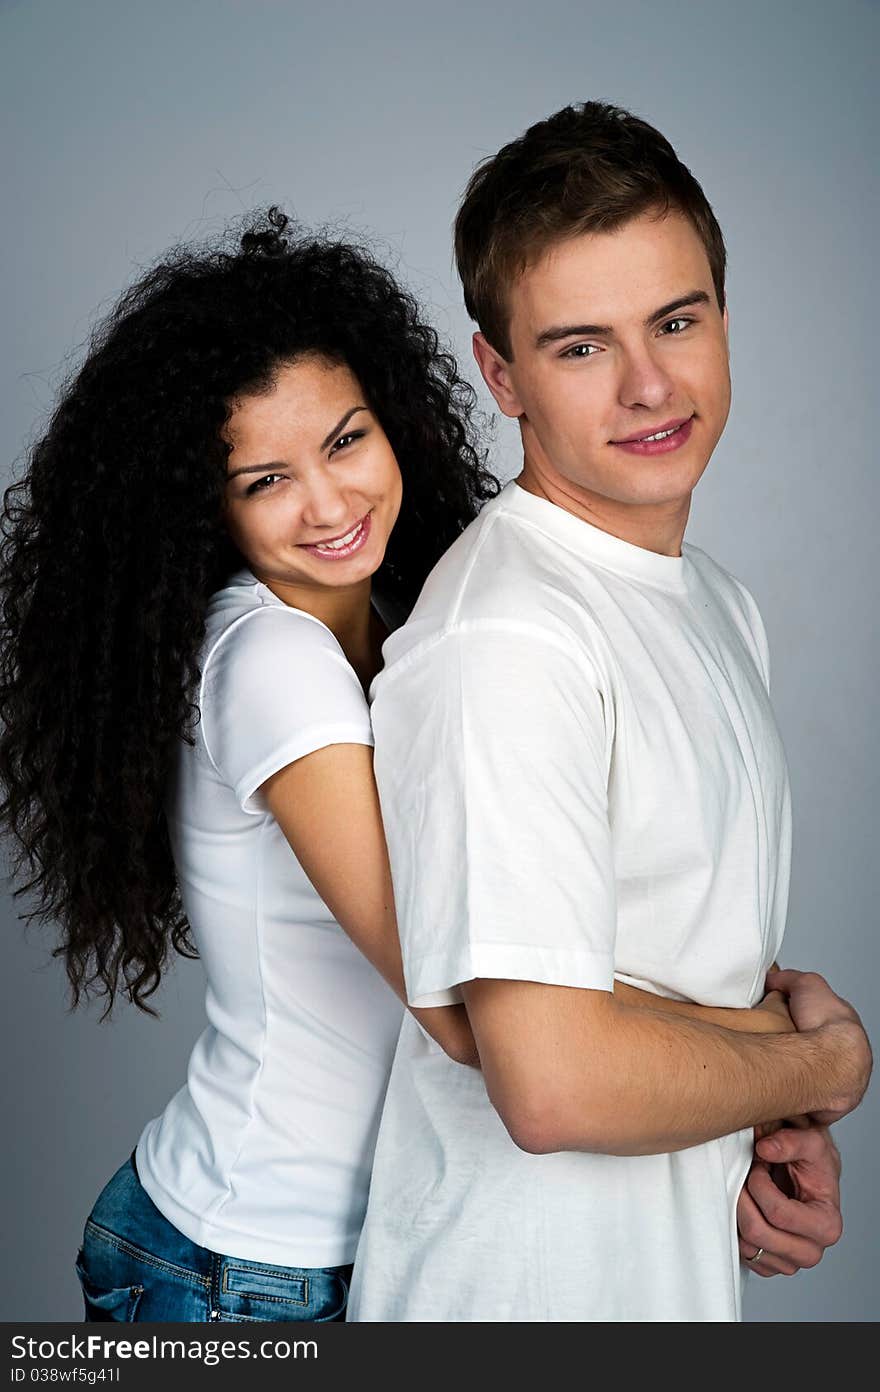
<svg viewBox="0 0 880 1392">
<path fill-rule="evenodd" d="M 351 1267 L 276 1267 L 184 1237 L 132 1160 L 102 1190 L 77 1258 L 85 1318 L 131 1321 L 344 1320 Z"/>
</svg>

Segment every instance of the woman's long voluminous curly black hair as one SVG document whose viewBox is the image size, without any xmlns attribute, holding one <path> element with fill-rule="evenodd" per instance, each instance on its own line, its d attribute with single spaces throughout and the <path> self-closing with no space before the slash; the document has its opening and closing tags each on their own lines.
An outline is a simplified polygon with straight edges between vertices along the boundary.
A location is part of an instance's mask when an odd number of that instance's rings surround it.
<svg viewBox="0 0 880 1392">
<path fill-rule="evenodd" d="M 195 955 L 163 816 L 192 739 L 209 596 L 241 565 L 223 528 L 234 400 L 304 354 L 358 377 L 404 503 L 377 579 L 411 604 L 498 491 L 473 391 L 414 299 L 362 246 L 278 209 L 182 248 L 91 341 L 0 528 L 0 823 L 28 920 L 54 920 L 72 1004 L 142 1009 L 168 949 Z"/>
</svg>

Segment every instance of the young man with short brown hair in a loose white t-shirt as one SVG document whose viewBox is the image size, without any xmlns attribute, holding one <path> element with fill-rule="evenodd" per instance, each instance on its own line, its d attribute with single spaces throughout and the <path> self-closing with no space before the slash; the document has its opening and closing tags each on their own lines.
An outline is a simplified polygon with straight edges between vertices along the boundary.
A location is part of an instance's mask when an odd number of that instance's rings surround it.
<svg viewBox="0 0 880 1392">
<path fill-rule="evenodd" d="M 730 405 L 721 232 L 663 136 L 588 103 L 476 171 L 457 258 L 522 473 L 386 644 L 373 728 L 409 999 L 464 998 L 482 1072 L 407 1018 L 349 1317 L 735 1320 L 753 1128 L 837 1119 L 870 1050 L 820 977 L 767 977 L 766 636 L 682 546 Z M 796 1033 L 749 1009 L 766 977 Z"/>
</svg>

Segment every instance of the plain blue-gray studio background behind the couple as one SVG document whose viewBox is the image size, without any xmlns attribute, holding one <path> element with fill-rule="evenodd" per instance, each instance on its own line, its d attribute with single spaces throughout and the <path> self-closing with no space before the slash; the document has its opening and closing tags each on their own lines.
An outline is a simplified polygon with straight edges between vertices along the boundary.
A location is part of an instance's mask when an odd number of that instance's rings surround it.
<svg viewBox="0 0 880 1392">
<path fill-rule="evenodd" d="M 770 633 L 795 805 L 783 960 L 826 973 L 874 1041 L 879 21 L 867 0 L 0 3 L 6 476 L 95 312 L 167 245 L 273 200 L 372 230 L 476 381 L 450 252 L 473 164 L 586 97 L 671 138 L 730 248 L 734 411 L 688 539 Z M 515 459 L 505 425 L 497 472 Z M 184 1079 L 201 969 L 178 963 L 160 1022 L 74 1018 L 49 938 L 0 894 L 0 1318 L 79 1318 L 82 1221 Z M 837 1128 L 842 1242 L 755 1278 L 751 1320 L 877 1318 L 879 1090 Z"/>
</svg>

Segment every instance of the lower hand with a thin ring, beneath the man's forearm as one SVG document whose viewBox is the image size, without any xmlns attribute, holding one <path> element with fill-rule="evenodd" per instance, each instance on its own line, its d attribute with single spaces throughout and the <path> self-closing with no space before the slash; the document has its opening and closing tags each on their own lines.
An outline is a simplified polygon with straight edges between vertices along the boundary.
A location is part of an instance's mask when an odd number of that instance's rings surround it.
<svg viewBox="0 0 880 1392">
<path fill-rule="evenodd" d="M 737 1221 L 739 1254 L 759 1276 L 815 1267 L 844 1229 L 840 1154 L 826 1126 L 799 1118 L 756 1141 Z M 749 1258 L 763 1249 L 759 1261 Z"/>
</svg>

